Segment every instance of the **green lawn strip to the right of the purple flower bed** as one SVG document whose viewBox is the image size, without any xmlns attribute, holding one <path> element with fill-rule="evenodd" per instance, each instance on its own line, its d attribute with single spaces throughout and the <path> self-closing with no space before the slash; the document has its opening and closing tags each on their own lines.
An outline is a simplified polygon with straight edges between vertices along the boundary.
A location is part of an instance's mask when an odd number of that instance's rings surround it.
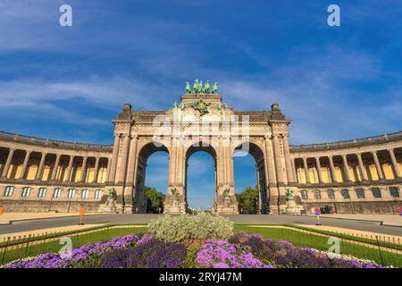
<svg viewBox="0 0 402 286">
<path fill-rule="evenodd" d="M 284 228 L 264 228 L 247 225 L 235 225 L 235 231 L 245 231 L 249 234 L 259 233 L 264 238 L 270 238 L 272 240 L 288 240 L 299 247 L 314 248 L 323 251 L 328 251 L 331 247 L 331 244 L 328 244 L 328 237 L 316 235 L 314 231 L 306 233 Z M 340 253 L 373 260 L 381 265 L 402 266 L 402 255 L 380 250 L 379 248 L 368 248 L 359 245 L 358 242 L 346 242 L 341 239 Z"/>
</svg>

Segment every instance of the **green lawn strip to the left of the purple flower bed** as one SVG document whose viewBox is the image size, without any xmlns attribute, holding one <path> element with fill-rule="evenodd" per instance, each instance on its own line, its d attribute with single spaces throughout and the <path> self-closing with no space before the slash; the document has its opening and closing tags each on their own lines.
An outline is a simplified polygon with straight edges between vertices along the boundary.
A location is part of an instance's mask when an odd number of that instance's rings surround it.
<svg viewBox="0 0 402 286">
<path fill-rule="evenodd" d="M 71 236 L 72 248 L 80 248 L 80 246 L 88 243 L 109 240 L 116 236 L 126 234 L 136 234 L 146 232 L 147 227 L 121 227 L 121 228 L 103 228 L 99 231 L 94 231 L 82 235 Z M 49 238 L 50 239 L 50 238 Z M 63 247 L 60 240 L 52 240 L 49 242 L 28 244 L 28 246 L 10 249 L 5 252 L 0 249 L 0 265 L 4 265 L 16 259 L 23 257 L 35 257 L 46 252 L 58 252 Z"/>
</svg>

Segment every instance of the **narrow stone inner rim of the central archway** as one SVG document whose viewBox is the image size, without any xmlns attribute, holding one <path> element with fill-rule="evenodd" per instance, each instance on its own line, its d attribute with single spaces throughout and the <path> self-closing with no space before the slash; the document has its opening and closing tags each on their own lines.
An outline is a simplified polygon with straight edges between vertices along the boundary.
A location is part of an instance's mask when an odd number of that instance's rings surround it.
<svg viewBox="0 0 402 286">
<path fill-rule="evenodd" d="M 216 173 L 216 151 L 214 147 L 205 143 L 205 142 L 196 142 L 188 147 L 185 156 L 185 180 L 184 180 L 184 196 L 185 196 L 185 203 L 186 207 L 188 207 L 188 161 L 191 156 L 198 152 L 204 152 L 209 154 L 213 158 L 214 162 L 214 205 L 211 206 L 213 211 L 216 209 L 216 199 L 217 199 L 217 173 Z"/>
</svg>

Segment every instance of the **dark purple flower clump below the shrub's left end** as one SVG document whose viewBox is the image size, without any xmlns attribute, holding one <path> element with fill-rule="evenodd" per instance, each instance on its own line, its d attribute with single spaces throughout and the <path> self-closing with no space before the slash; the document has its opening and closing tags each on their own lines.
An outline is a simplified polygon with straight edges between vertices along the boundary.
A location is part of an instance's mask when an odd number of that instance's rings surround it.
<svg viewBox="0 0 402 286">
<path fill-rule="evenodd" d="M 100 268 L 178 268 L 186 258 L 180 243 L 147 240 L 134 248 L 118 249 L 105 255 Z"/>
</svg>

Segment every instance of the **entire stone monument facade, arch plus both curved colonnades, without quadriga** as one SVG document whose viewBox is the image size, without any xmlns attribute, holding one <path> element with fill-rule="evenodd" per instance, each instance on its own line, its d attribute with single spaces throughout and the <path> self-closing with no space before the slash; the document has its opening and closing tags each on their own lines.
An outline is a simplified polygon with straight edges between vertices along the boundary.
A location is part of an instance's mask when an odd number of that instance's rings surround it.
<svg viewBox="0 0 402 286">
<path fill-rule="evenodd" d="M 295 191 L 307 213 L 315 206 L 337 213 L 398 212 L 402 133 L 289 146 L 289 123 L 276 104 L 270 111 L 239 112 L 222 105 L 219 95 L 184 95 L 167 111 L 124 105 L 113 120 L 113 146 L 1 132 L 0 205 L 10 212 L 77 212 L 80 206 L 98 212 L 113 188 L 118 213 L 144 213 L 147 158 L 163 151 L 169 155 L 164 211 L 184 214 L 188 158 L 205 151 L 214 157 L 218 214 L 239 213 L 233 157 L 242 152 L 255 158 L 260 214 L 284 212 L 286 189 Z"/>
</svg>

